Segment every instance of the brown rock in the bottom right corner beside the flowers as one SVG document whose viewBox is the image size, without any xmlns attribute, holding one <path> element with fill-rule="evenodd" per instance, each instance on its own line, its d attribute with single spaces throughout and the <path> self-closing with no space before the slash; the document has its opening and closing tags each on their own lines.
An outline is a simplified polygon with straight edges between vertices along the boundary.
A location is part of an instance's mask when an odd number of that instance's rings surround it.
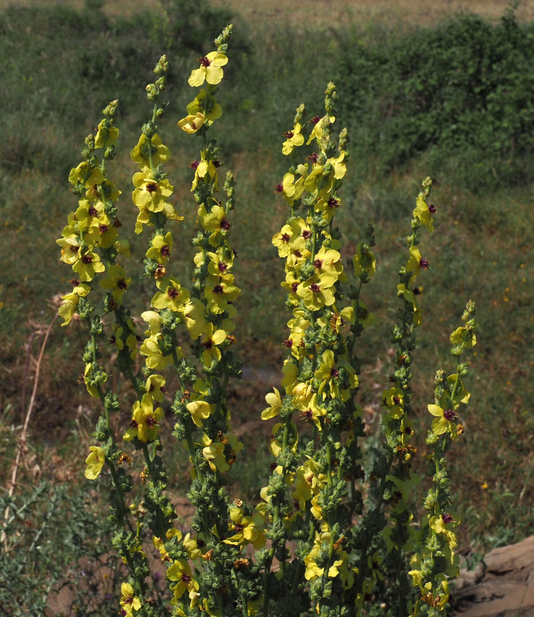
<svg viewBox="0 0 534 617">
<path fill-rule="evenodd" d="M 453 595 L 458 617 L 534 617 L 534 536 L 461 569 Z"/>
</svg>

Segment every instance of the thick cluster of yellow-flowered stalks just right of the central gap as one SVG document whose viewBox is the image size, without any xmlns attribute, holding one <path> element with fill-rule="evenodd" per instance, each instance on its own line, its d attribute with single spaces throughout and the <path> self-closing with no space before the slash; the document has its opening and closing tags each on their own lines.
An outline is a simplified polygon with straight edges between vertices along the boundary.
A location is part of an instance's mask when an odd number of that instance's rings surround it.
<svg viewBox="0 0 534 617">
<path fill-rule="evenodd" d="M 369 226 L 354 259 L 358 286 L 348 290 L 352 302 L 346 305 L 341 285 L 347 275 L 334 217 L 342 206 L 338 191 L 347 173 L 349 139 L 344 128 L 334 141 L 336 100 L 335 85 L 329 83 L 326 113 L 310 120 L 306 145 L 313 143 L 316 151 L 307 162 L 298 162 L 306 133 L 306 110 L 298 107 L 282 146 L 290 167 L 276 186 L 290 207 L 273 244 L 285 259 L 282 286 L 293 316 L 284 342 L 288 355 L 281 389 L 267 395 L 269 407 L 261 416 L 280 419 L 271 441 L 276 464 L 261 491 L 271 540 L 263 555 L 265 617 L 269 610 L 298 614 L 310 605 L 319 615 L 334 615 L 355 599 L 349 555 L 354 549 L 351 517 L 361 513 L 363 503 L 356 487 L 363 477 L 358 463 L 363 422 L 354 402 L 359 389 L 354 347 L 371 317 L 359 296 L 374 274 L 375 259 Z M 302 216 L 299 209 L 305 211 Z M 288 544 L 295 541 L 297 549 L 290 555 Z M 274 557 L 281 576 L 270 571 Z"/>
</svg>

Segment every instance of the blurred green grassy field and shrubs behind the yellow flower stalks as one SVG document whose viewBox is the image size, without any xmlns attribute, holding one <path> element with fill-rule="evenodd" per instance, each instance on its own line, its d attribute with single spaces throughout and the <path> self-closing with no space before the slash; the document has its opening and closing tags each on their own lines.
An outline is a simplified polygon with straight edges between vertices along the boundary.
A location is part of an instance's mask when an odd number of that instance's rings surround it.
<svg viewBox="0 0 534 617">
<path fill-rule="evenodd" d="M 198 144 L 176 121 L 191 100 L 186 82 L 195 58 L 211 49 L 213 36 L 232 20 L 236 36 L 216 133 L 225 168 L 234 170 L 238 182 L 232 233 L 239 255 L 236 283 L 243 290 L 236 335 L 245 371 L 232 385 L 229 402 L 247 450 L 232 468 L 229 491 L 258 500 L 271 462 L 270 425 L 259 417 L 263 397 L 280 376 L 289 318 L 279 286 L 283 264 L 270 241 L 286 217 L 274 195 L 287 165 L 281 134 L 300 102 L 306 102 L 310 117 L 322 113 L 324 86 L 333 79 L 340 93 L 337 122 L 351 134 L 339 217 L 345 263 L 369 220 L 377 236 L 377 275 L 364 298 L 377 323 L 362 337 L 360 352 L 368 453 L 380 443 L 380 395 L 392 371 L 388 332 L 398 307 L 396 270 L 406 259 L 404 237 L 418 185 L 430 175 L 438 213 L 435 233 L 421 244 L 431 269 L 422 280 L 425 325 L 414 365 L 419 400 L 414 466 L 425 468 L 425 409 L 432 402 L 433 374 L 450 366 L 448 335 L 471 298 L 480 321 L 469 378 L 474 404 L 462 418 L 466 434 L 451 453 L 450 475 L 462 518 L 459 548 L 464 555 L 479 555 L 533 532 L 534 21 L 522 19 L 514 7 L 503 8 L 499 19 L 461 12 L 426 25 L 424 19 L 406 22 L 385 11 L 358 21 L 357 11 L 354 19 L 350 10 L 334 19 L 327 2 L 305 4 L 309 19 L 302 10 L 292 19 L 276 10 L 272 19 L 253 19 L 248 5 L 240 15 L 239 3 L 207 0 L 164 0 L 148 9 L 132 2 L 135 10 L 128 11 L 111 0 L 113 10 L 102 0 L 19 2 L 0 13 L 1 475 L 7 478 L 12 468 L 25 417 L 21 391 L 25 382 L 31 388 L 35 374 L 38 336 L 25 371 L 30 333 L 51 320 L 53 297 L 70 290 L 70 273 L 54 242 L 76 204 L 68 171 L 78 162 L 84 136 L 115 98 L 120 139 L 109 178 L 123 191 L 123 231 L 136 251 L 129 271 L 141 272 L 146 239 L 133 234 L 129 191 L 136 168 L 129 151 L 149 113 L 144 86 L 162 52 L 170 60 L 170 103 L 158 132 L 173 154 L 166 171 L 176 187 L 175 207 L 185 217 L 173 230 L 181 244 L 173 267 L 181 281 L 191 280 L 189 238 L 197 222 L 187 164 L 197 156 Z M 350 9 L 350 2 L 345 4 Z M 149 305 L 152 283 L 137 279 L 129 295 L 134 294 L 138 317 Z M 8 615 L 42 615 L 47 603 L 47 615 L 96 615 L 109 610 L 108 595 L 115 598 L 117 581 L 106 582 L 116 571 L 107 563 L 112 551 L 102 528 L 106 481 L 99 480 L 91 493 L 94 485 L 82 481 L 99 413 L 77 384 L 83 346 L 76 323 L 55 327 L 47 344 L 12 503 L 9 532 L 17 540 L 15 549 L 0 556 L 0 589 L 2 582 L 10 585 L 4 587 L 10 599 L 0 597 L 0 605 Z M 131 394 L 116 377 L 125 403 L 116 426 L 120 434 L 129 421 Z M 162 432 L 170 492 L 186 524 L 188 465 L 181 446 L 169 437 L 170 402 Z M 9 501 L 3 499 L 2 512 Z M 107 579 L 99 564 L 109 568 Z M 100 573 L 94 574 L 97 582 L 86 576 L 80 584 L 82 571 Z M 69 585 L 65 595 L 61 590 Z M 89 594 L 91 585 L 97 585 L 99 605 L 78 597 Z"/>
</svg>

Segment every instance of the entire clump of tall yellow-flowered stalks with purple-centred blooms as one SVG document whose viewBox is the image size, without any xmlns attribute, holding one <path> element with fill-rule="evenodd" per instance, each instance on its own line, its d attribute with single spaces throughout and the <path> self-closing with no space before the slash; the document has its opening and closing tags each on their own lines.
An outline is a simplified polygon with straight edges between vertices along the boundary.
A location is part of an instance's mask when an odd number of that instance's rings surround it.
<svg viewBox="0 0 534 617">
<path fill-rule="evenodd" d="M 374 320 L 361 292 L 376 271 L 371 250 L 375 239 L 374 228 L 368 225 L 352 259 L 353 284 L 348 284 L 341 233 L 334 223 L 343 205 L 340 189 L 350 160 L 349 137 L 346 128 L 337 135 L 334 130 L 338 95 L 332 82 L 326 89 L 324 115 L 308 121 L 305 106 L 300 105 L 282 143 L 289 168 L 276 193 L 287 203 L 289 216 L 272 241 L 285 263 L 282 287 L 291 318 L 284 340 L 284 378 L 266 396 L 268 407 L 261 413 L 263 420 L 277 418 L 270 443 L 276 461 L 255 507 L 241 499 L 231 503 L 224 489 L 224 473 L 243 447 L 232 434 L 226 400 L 229 379 L 241 375 L 241 363 L 232 351 L 234 303 L 240 295 L 234 280 L 237 257 L 230 244 L 236 180 L 231 171 L 220 178 L 221 148 L 208 131 L 223 114 L 216 95 L 228 64 L 232 32 L 232 25 L 224 28 L 214 41 L 216 49 L 199 59 L 188 83 L 200 90 L 178 122 L 182 131 L 201 140 L 198 160 L 189 165 L 201 227 L 192 239 L 197 251 L 189 289 L 176 271 L 180 241 L 168 226 L 183 217 L 171 203 L 173 186 L 163 168 L 170 151 L 158 135 L 157 123 L 166 109 L 165 56 L 154 69 L 154 83 L 146 88 L 153 108 L 130 153 L 139 167 L 132 178 L 132 200 L 138 209 L 134 231 L 150 233 L 143 276 L 154 281 L 149 310 L 141 314 L 144 338 L 136 333 L 125 304 L 132 281 L 122 262 L 129 257 L 129 244 L 118 233 L 121 223 L 115 202 L 120 191 L 106 178 L 106 164 L 115 155 L 118 138 L 117 101 L 104 110 L 96 136 L 86 138 L 83 161 L 69 176 L 78 208 L 68 215 L 57 243 L 62 261 L 72 266 L 77 278 L 71 281 L 73 291 L 63 297 L 59 313 L 64 325 L 77 313 L 88 327 L 81 381 L 100 400 L 103 415 L 93 434 L 99 445 L 91 446 L 85 474 L 96 479 L 104 465 L 110 473 L 109 518 L 117 525 L 113 547 L 129 568 L 119 612 L 142 617 L 170 612 L 181 617 L 202 613 L 268 617 L 311 610 L 324 617 L 356 616 L 377 599 L 377 584 L 387 581 L 396 598 L 394 615 L 405 617 L 412 608 L 418 614 L 423 606 L 434 615 L 448 599 L 445 577 L 457 571 L 451 531 L 456 520 L 448 508 L 444 464 L 450 446 L 447 435 L 456 439 L 461 433 L 455 418 L 459 403 L 469 398 L 461 381 L 467 364 L 458 364 L 456 374 L 447 379 L 443 371 L 436 376 L 436 400 L 429 405 L 435 420 L 427 438 L 433 447 L 435 488 L 424 501 L 427 522 L 415 531 L 409 511 L 410 489 L 418 479 L 411 471 L 416 449 L 410 444 L 409 382 L 414 331 L 422 323 L 417 301 L 421 288 L 415 280 L 428 267 L 417 248 L 417 231 L 422 226 L 433 231 L 435 212 L 427 205 L 432 186 L 427 178 L 407 238 L 409 259 L 399 273 L 402 307 L 392 333 L 398 345 L 396 365 L 382 395 L 385 451 L 368 473 L 374 490 L 365 508 L 360 482 L 366 472 L 358 443 L 364 423 L 355 402 L 361 387 L 356 342 Z M 99 275 L 100 314 L 94 294 L 89 296 L 97 289 Z M 466 325 L 451 336 L 458 358 L 475 343 L 472 303 L 463 318 Z M 119 400 L 99 363 L 106 336 L 116 354 L 115 369 L 131 384 L 133 402 Z M 144 358 L 139 370 L 138 354 Z M 195 513 L 192 532 L 185 536 L 174 526 L 176 513 L 166 496 L 160 420 L 165 396 L 171 393 L 164 371 L 172 371 L 178 383 L 171 405 L 173 436 L 191 463 L 187 496 Z M 110 422 L 110 414 L 121 412 L 125 405 L 128 428 L 122 440 L 130 454 L 137 453 L 132 456 L 120 449 Z M 139 477 L 144 493 L 137 505 L 129 500 L 134 482 L 124 470 L 132 459 L 142 460 Z M 158 585 L 149 568 L 147 541 L 165 566 L 167 589 Z M 418 552 L 411 558 L 409 575 L 421 597 L 412 607 L 405 563 L 406 553 L 414 550 Z"/>
</svg>

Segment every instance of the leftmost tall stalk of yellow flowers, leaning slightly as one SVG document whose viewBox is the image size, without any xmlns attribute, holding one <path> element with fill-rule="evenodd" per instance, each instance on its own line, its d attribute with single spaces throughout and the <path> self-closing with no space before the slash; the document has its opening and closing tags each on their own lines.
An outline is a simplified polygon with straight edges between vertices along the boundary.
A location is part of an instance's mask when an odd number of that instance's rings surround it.
<svg viewBox="0 0 534 617">
<path fill-rule="evenodd" d="M 122 466 L 123 463 L 130 465 L 131 459 L 118 447 L 110 425 L 110 415 L 120 411 L 120 402 L 118 395 L 105 385 L 108 375 L 99 365 L 102 358 L 99 344 L 102 344 L 105 338 L 104 322 L 88 297 L 91 292 L 96 291 L 96 275 L 105 272 L 107 276 L 99 281 L 99 287 L 105 291 L 102 314 L 113 313 L 115 317 L 110 341 L 117 350 L 118 368 L 131 375 L 131 362 L 137 356 L 136 334 L 129 311 L 123 305 L 123 297 L 129 289 L 131 279 L 126 275 L 123 265 L 117 262 L 119 258 L 129 257 L 129 243 L 118 238 L 117 230 L 121 223 L 117 217 L 115 202 L 120 191 L 105 178 L 106 162 L 113 159 L 115 141 L 118 138 L 118 128 L 115 126 L 117 106 L 118 101 L 112 101 L 105 108 L 96 136 L 89 135 L 85 140 L 81 151 L 84 160 L 73 168 L 69 175 L 73 193 L 79 197 L 78 209 L 68 215 L 67 226 L 57 244 L 61 247 L 62 261 L 71 265 L 79 278 L 71 281 L 73 291 L 63 297 L 64 302 L 59 314 L 64 318 L 62 325 L 67 325 L 77 313 L 88 328 L 89 341 L 83 355 L 85 370 L 81 381 L 89 394 L 100 400 L 104 415 L 99 417 L 93 434 L 100 445 L 90 448 L 85 476 L 96 479 L 104 464 L 110 471 L 113 492 L 109 519 L 117 524 L 113 546 L 130 570 L 128 581 L 121 587 L 120 610 L 126 615 L 134 608 L 139 611 L 139 615 L 148 616 L 155 614 L 154 607 L 145 600 L 149 588 L 146 583 L 149 567 L 142 551 L 140 527 L 138 525 L 136 531 L 133 531 L 129 521 L 130 510 L 126 500 L 128 492 L 133 488 L 133 479 L 130 474 L 125 473 Z M 99 150 L 100 158 L 97 155 Z M 150 402 L 152 400 L 151 398 Z M 149 401 L 146 400 L 146 405 L 148 404 Z M 154 433 L 157 428 L 152 427 L 151 430 Z"/>
</svg>

